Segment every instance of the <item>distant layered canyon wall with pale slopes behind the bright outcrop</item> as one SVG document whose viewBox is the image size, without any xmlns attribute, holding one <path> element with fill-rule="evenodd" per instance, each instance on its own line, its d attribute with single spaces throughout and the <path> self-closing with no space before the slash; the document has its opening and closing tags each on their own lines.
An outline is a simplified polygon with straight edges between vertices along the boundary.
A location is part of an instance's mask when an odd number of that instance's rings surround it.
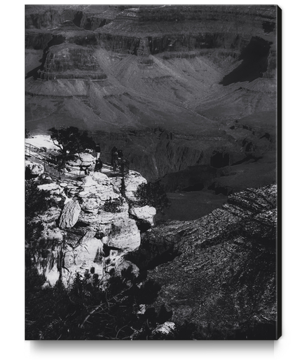
<svg viewBox="0 0 302 360">
<path fill-rule="evenodd" d="M 33 134 L 64 119 L 148 180 L 275 150 L 274 6 L 29 6 L 26 28 Z"/>
</svg>

